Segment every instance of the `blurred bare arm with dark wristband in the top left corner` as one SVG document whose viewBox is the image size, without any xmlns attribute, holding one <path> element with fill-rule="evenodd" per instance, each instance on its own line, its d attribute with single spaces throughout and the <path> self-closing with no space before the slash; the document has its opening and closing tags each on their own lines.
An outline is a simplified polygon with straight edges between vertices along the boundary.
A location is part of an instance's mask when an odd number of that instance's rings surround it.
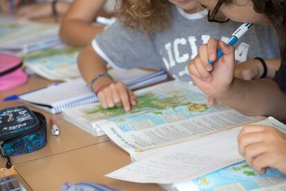
<svg viewBox="0 0 286 191">
<path fill-rule="evenodd" d="M 12 3 L 12 4 L 11 4 Z M 39 19 L 53 15 L 64 15 L 70 7 L 70 1 L 25 1 L 1 0 L 1 7 L 6 12 L 16 12 L 17 19 Z"/>
</svg>

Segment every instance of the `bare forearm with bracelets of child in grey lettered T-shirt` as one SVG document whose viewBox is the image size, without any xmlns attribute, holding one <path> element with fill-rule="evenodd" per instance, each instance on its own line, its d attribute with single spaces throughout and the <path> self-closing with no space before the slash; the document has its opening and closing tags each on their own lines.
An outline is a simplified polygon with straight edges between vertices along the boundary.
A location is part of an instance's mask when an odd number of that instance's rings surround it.
<svg viewBox="0 0 286 191">
<path fill-rule="evenodd" d="M 99 73 L 107 73 L 106 62 L 97 55 L 91 45 L 86 46 L 77 57 L 79 71 L 88 85 L 90 81 Z M 98 78 L 93 84 L 93 88 L 101 85 L 110 84 L 113 80 L 109 77 Z"/>
</svg>

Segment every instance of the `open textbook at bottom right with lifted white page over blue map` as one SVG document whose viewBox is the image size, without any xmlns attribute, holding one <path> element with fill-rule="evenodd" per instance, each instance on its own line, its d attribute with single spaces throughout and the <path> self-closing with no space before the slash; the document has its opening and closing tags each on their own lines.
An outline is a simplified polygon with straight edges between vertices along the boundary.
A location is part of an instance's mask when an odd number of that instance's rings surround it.
<svg viewBox="0 0 286 191">
<path fill-rule="evenodd" d="M 273 126 L 286 134 L 286 126 L 274 118 L 254 124 Z M 239 163 L 244 160 L 238 154 L 241 129 L 242 126 L 165 147 L 106 176 L 160 183 L 167 190 L 285 190 L 285 174 L 267 169 L 266 174 L 258 175 L 245 162 Z"/>
</svg>

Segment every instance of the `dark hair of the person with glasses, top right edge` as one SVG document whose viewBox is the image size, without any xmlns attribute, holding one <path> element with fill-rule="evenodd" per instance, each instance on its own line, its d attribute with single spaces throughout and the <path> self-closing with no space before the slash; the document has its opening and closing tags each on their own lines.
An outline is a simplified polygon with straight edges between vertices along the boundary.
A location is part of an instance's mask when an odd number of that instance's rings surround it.
<svg viewBox="0 0 286 191">
<path fill-rule="evenodd" d="M 224 0 L 224 3 L 235 3 L 235 0 Z M 286 64 L 286 0 L 251 0 L 254 10 L 263 13 L 271 20 L 279 37 L 280 55 Z"/>
</svg>

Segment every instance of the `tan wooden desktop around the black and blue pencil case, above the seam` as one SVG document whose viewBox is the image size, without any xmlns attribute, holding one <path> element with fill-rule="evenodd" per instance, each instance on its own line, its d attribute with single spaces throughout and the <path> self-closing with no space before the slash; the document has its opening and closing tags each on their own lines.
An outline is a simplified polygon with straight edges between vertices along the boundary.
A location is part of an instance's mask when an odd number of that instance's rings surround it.
<svg viewBox="0 0 286 191">
<path fill-rule="evenodd" d="M 17 89 L 12 89 L 10 91 L 4 91 L 0 93 L 0 109 L 12 107 L 15 105 L 23 105 L 22 103 L 17 101 L 3 102 L 2 100 L 6 96 L 23 93 L 31 89 L 37 89 L 39 87 L 43 87 L 51 83 L 53 83 L 53 81 L 45 80 L 38 75 L 31 75 L 28 80 L 28 83 L 24 84 L 23 86 Z M 43 113 L 44 116 L 46 116 L 47 121 L 51 116 L 53 116 L 52 114 L 36 109 L 35 107 L 28 107 L 32 110 L 40 111 L 41 113 Z M 62 152 L 68 152 L 70 150 L 95 145 L 97 143 L 102 143 L 108 140 L 107 136 L 95 137 L 86 133 L 85 131 L 82 131 L 81 129 L 70 124 L 69 122 L 63 120 L 61 114 L 55 117 L 57 119 L 57 125 L 59 126 L 61 134 L 59 136 L 51 135 L 50 123 L 48 122 L 46 146 L 43 149 L 39 149 L 38 151 L 32 152 L 30 154 L 11 156 L 12 165 L 18 165 L 27 161 L 33 161 L 38 158 L 44 158 L 54 154 L 59 154 Z M 10 174 L 13 174 L 13 169 L 11 168 L 10 170 L 6 170 L 5 165 L 6 158 L 0 158 L 0 176 L 9 176 Z"/>
</svg>

